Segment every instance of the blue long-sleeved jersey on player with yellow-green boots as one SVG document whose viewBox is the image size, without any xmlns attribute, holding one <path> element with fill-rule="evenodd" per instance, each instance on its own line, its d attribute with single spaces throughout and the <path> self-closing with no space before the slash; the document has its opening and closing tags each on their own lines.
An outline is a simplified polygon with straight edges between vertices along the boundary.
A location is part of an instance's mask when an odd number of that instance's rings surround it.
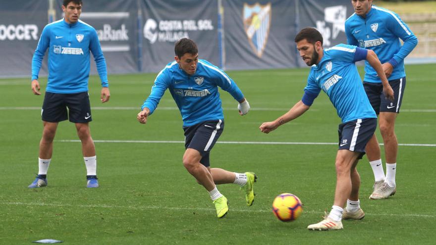
<svg viewBox="0 0 436 245">
<path fill-rule="evenodd" d="M 159 72 L 141 110 L 147 107 L 152 114 L 165 90 L 169 89 L 182 115 L 183 126 L 224 119 L 218 86 L 237 101 L 244 98 L 236 83 L 209 61 L 200 59 L 194 75 L 188 75 L 173 61 Z"/>
</svg>

